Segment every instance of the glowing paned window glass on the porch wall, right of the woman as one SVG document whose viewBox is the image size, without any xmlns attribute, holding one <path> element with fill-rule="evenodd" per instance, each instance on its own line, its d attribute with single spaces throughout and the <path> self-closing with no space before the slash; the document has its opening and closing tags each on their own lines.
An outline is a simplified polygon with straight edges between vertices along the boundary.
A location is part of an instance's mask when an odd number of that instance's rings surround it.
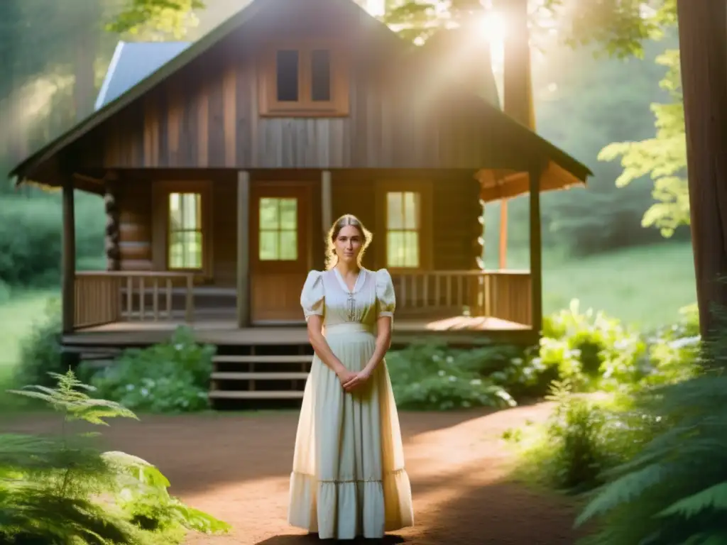
<svg viewBox="0 0 727 545">
<path fill-rule="evenodd" d="M 421 201 L 421 195 L 414 191 L 386 194 L 387 267 L 419 267 Z"/>
</svg>

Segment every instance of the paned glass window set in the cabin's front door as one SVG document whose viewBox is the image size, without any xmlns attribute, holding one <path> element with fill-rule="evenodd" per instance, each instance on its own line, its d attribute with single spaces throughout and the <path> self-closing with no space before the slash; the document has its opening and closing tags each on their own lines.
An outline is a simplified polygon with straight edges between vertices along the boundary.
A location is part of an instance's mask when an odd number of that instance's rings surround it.
<svg viewBox="0 0 727 545">
<path fill-rule="evenodd" d="M 297 198 L 260 199 L 260 261 L 297 261 Z"/>
</svg>

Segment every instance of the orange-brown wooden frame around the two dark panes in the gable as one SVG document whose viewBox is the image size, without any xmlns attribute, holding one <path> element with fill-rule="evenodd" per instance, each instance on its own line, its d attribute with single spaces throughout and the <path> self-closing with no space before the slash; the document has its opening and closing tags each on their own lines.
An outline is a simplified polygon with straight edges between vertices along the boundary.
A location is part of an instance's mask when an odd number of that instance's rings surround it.
<svg viewBox="0 0 727 545">
<path fill-rule="evenodd" d="M 298 52 L 298 100 L 279 101 L 277 53 L 284 49 Z M 329 52 L 331 100 L 313 101 L 311 59 L 313 51 Z M 338 41 L 281 41 L 262 49 L 258 69 L 258 109 L 264 117 L 345 117 L 350 111 L 349 55 Z"/>
</svg>

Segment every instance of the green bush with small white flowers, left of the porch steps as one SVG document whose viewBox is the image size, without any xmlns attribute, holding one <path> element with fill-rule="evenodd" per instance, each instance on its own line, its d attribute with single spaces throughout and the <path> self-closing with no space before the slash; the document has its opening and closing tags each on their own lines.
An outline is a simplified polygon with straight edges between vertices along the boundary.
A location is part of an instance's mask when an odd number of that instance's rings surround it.
<svg viewBox="0 0 727 545">
<path fill-rule="evenodd" d="M 174 331 L 169 342 L 126 350 L 95 374 L 99 395 L 134 411 L 200 411 L 209 406 L 209 376 L 215 347 L 197 344 L 190 328 Z"/>
</svg>

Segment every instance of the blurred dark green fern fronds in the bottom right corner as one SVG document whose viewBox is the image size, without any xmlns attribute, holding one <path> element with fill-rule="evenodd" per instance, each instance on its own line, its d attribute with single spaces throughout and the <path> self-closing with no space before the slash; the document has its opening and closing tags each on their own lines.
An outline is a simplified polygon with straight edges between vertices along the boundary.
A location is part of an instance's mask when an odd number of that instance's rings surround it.
<svg viewBox="0 0 727 545">
<path fill-rule="evenodd" d="M 608 473 L 578 523 L 597 518 L 603 545 L 727 541 L 727 328 L 703 347 L 702 372 L 635 400 L 662 431 Z"/>
</svg>

